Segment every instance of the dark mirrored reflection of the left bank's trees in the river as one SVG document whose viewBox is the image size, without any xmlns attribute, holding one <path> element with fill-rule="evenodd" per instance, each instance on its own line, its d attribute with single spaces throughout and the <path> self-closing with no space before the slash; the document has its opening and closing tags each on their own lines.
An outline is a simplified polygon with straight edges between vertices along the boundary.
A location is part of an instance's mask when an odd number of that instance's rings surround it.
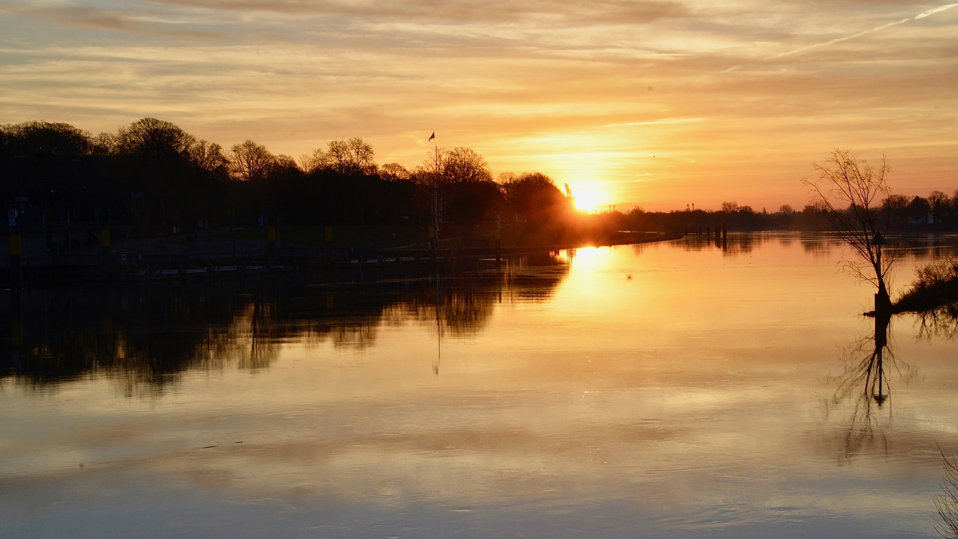
<svg viewBox="0 0 958 539">
<path fill-rule="evenodd" d="M 126 395 L 156 394 L 189 370 L 268 367 L 288 341 L 371 346 L 382 324 L 432 324 L 437 337 L 463 339 L 482 330 L 496 303 L 544 300 L 567 272 L 543 253 L 499 270 L 363 284 L 28 290 L 0 311 L 8 328 L 0 335 L 0 383 L 42 390 L 108 376 Z"/>
</svg>

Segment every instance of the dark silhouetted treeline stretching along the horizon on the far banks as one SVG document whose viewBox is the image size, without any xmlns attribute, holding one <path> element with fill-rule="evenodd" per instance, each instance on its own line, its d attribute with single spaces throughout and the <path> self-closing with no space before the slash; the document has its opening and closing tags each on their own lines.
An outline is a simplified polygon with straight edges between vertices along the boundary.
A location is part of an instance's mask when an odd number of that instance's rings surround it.
<svg viewBox="0 0 958 539">
<path fill-rule="evenodd" d="M 420 166 L 377 165 L 360 138 L 334 140 L 298 160 L 251 140 L 228 151 L 170 122 L 144 118 L 115 133 L 93 135 L 68 124 L 24 122 L 0 127 L 0 199 L 17 225 L 115 223 L 140 226 L 432 223 L 438 185 L 449 234 L 488 231 L 497 223 L 571 238 L 589 230 L 696 232 L 827 229 L 825 213 L 784 205 L 773 213 L 736 202 L 719 211 L 577 213 L 552 179 L 505 173 L 493 179 L 482 155 L 439 149 Z M 902 226 L 953 227 L 954 199 L 885 200 Z M 585 232 L 583 232 L 585 231 Z"/>
</svg>

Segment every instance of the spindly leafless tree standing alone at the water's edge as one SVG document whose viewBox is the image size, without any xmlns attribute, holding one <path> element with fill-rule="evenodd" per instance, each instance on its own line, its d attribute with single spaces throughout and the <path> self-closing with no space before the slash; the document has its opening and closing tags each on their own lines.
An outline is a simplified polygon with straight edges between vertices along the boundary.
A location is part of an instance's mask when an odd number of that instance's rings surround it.
<svg viewBox="0 0 958 539">
<path fill-rule="evenodd" d="M 886 281 L 892 263 L 900 255 L 891 251 L 888 256 L 881 256 L 895 207 L 882 203 L 891 196 L 885 179 L 891 167 L 884 156 L 878 166 L 872 166 L 852 152 L 838 149 L 812 166 L 818 171 L 818 179 L 806 178 L 802 182 L 812 192 L 813 202 L 826 211 L 838 237 L 858 255 L 844 261 L 846 269 L 878 288 L 876 312 L 891 311 Z"/>
</svg>

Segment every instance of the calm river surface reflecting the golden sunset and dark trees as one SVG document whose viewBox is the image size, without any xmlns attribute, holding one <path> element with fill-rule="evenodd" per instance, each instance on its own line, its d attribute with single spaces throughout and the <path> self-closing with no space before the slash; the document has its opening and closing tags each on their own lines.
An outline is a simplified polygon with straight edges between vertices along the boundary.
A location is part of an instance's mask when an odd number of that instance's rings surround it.
<svg viewBox="0 0 958 539">
<path fill-rule="evenodd" d="M 932 535 L 955 325 L 894 318 L 866 386 L 840 258 L 756 234 L 4 295 L 0 536 Z"/>
</svg>

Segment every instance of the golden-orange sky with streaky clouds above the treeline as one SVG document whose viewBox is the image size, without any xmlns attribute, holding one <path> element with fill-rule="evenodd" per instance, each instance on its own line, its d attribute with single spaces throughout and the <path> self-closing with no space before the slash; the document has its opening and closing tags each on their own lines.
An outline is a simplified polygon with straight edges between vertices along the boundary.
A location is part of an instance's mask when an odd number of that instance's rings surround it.
<svg viewBox="0 0 958 539">
<path fill-rule="evenodd" d="M 952 194 L 956 38 L 958 4 L 904 0 L 0 0 L 0 124 L 407 168 L 435 131 L 581 206 L 773 211 L 834 148 Z"/>
</svg>

